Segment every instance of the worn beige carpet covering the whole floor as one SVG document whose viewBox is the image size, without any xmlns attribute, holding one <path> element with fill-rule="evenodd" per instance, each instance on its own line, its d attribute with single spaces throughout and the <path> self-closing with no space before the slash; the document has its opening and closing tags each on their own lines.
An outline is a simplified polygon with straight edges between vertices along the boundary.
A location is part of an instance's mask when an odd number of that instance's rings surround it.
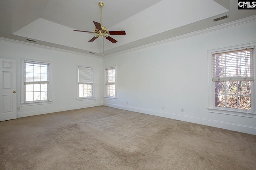
<svg viewBox="0 0 256 170">
<path fill-rule="evenodd" d="M 1 170 L 256 169 L 256 136 L 106 106 L 0 122 Z"/>
</svg>

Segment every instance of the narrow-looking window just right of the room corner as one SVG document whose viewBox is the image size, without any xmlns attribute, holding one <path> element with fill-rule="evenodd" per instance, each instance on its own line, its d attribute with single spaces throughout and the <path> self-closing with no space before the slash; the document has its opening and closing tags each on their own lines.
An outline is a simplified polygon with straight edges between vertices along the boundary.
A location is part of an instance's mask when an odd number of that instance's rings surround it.
<svg viewBox="0 0 256 170">
<path fill-rule="evenodd" d="M 116 67 L 106 68 L 106 97 L 116 98 Z"/>
</svg>

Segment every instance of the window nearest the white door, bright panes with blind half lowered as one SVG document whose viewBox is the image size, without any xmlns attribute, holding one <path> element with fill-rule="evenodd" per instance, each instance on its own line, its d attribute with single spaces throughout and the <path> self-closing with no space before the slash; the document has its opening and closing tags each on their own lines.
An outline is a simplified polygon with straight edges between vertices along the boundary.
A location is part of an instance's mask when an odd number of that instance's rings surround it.
<svg viewBox="0 0 256 170">
<path fill-rule="evenodd" d="M 24 61 L 24 102 L 49 101 L 50 63 Z"/>
</svg>

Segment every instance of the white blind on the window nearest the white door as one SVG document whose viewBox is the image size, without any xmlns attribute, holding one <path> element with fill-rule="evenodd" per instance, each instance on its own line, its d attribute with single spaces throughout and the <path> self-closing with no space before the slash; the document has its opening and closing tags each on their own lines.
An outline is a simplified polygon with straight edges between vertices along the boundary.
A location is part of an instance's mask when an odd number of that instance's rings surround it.
<svg viewBox="0 0 256 170">
<path fill-rule="evenodd" d="M 24 84 L 49 84 L 49 63 L 24 62 Z"/>
</svg>

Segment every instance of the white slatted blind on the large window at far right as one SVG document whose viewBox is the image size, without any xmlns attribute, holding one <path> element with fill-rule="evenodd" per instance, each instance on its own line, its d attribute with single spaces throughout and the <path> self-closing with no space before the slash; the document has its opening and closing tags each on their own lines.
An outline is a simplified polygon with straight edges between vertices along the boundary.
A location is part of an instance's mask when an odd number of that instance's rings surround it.
<svg viewBox="0 0 256 170">
<path fill-rule="evenodd" d="M 253 48 L 212 54 L 212 80 L 254 81 Z"/>
</svg>

